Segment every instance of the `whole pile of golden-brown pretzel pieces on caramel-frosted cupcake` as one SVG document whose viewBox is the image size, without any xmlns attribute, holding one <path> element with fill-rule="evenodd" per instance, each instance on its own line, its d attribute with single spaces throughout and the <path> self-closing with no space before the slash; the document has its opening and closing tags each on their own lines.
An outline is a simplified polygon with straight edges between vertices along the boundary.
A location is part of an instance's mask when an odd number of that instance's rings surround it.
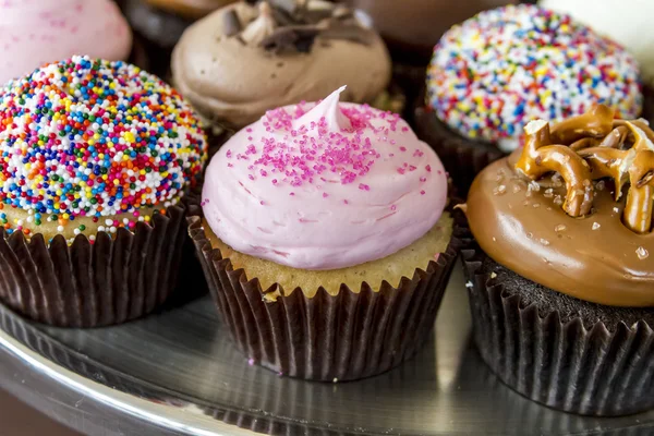
<svg viewBox="0 0 654 436">
<path fill-rule="evenodd" d="M 571 217 L 591 211 L 592 181 L 610 178 L 615 199 L 629 183 L 622 222 L 635 233 L 652 230 L 654 207 L 654 131 L 644 120 L 614 120 L 614 111 L 589 112 L 549 126 L 536 120 L 525 128 L 525 144 L 516 164 L 531 180 L 558 172 L 566 182 L 564 210 Z"/>
</svg>

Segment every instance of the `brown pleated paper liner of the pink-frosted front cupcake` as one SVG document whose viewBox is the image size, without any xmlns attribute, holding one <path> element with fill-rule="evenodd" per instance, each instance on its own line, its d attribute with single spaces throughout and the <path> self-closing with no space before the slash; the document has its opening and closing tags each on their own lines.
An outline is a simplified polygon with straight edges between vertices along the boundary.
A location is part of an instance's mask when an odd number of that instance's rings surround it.
<svg viewBox="0 0 654 436">
<path fill-rule="evenodd" d="M 192 214 L 190 214 L 192 215 Z M 352 380 L 399 365 L 424 343 L 434 326 L 462 242 L 426 270 L 387 281 L 379 292 L 363 283 L 359 292 L 342 284 L 337 295 L 323 288 L 307 298 L 301 289 L 268 302 L 258 280 L 213 249 L 201 216 L 190 216 L 190 234 L 201 254 L 209 291 L 237 347 L 251 360 L 291 377 Z M 275 289 L 271 287 L 270 289 Z"/>
</svg>

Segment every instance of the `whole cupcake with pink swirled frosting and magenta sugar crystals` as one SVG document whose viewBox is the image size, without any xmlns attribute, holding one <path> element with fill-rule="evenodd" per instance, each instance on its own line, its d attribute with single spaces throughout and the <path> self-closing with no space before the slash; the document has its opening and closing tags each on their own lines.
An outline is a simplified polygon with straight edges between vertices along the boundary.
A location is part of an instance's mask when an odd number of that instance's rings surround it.
<svg viewBox="0 0 654 436">
<path fill-rule="evenodd" d="M 207 168 L 204 217 L 190 218 L 250 362 L 329 382 L 419 349 L 459 244 L 436 154 L 398 114 L 340 104 L 342 93 L 239 131 Z"/>
</svg>

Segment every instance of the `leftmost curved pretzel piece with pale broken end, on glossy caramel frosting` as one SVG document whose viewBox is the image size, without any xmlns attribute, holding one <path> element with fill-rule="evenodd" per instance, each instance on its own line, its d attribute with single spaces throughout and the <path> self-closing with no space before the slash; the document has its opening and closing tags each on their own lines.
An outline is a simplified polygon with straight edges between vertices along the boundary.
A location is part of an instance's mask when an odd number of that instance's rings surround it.
<svg viewBox="0 0 654 436">
<path fill-rule="evenodd" d="M 531 121 L 524 131 L 525 144 L 516 169 L 532 180 L 547 172 L 558 172 L 566 181 L 568 191 L 564 203 L 566 214 L 571 217 L 588 215 L 594 196 L 589 165 L 569 147 L 552 145 L 549 124 L 546 121 Z"/>
</svg>

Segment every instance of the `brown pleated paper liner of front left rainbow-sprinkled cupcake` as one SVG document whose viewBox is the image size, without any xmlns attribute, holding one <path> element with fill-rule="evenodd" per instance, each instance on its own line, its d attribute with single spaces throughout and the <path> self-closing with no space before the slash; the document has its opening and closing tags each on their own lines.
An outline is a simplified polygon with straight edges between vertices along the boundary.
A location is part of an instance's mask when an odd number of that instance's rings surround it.
<svg viewBox="0 0 654 436">
<path fill-rule="evenodd" d="M 57 235 L 29 241 L 0 230 L 0 301 L 44 324 L 99 327 L 144 316 L 174 289 L 186 239 L 185 206 L 155 214 L 134 232 L 114 238 L 80 234 L 71 245 Z"/>
</svg>

